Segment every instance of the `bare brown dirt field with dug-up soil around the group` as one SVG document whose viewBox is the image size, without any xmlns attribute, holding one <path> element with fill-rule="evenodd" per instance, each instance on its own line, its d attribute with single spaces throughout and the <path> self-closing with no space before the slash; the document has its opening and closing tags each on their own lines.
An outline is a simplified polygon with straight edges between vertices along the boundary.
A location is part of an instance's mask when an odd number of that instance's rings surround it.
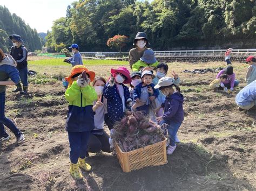
<svg viewBox="0 0 256 191">
<path fill-rule="evenodd" d="M 86 63 L 85 63 L 86 65 Z M 185 120 L 181 143 L 163 166 L 123 173 L 117 157 L 90 153 L 92 172 L 75 181 L 69 174 L 69 143 L 65 131 L 68 104 L 60 81 L 30 84 L 30 95 L 6 93 L 6 116 L 25 134 L 25 142 L 0 143 L 1 190 L 255 190 L 256 110 L 238 111 L 235 95 L 245 86 L 246 65 L 233 63 L 240 80 L 232 94 L 208 89 L 217 73 L 182 73 L 184 69 L 225 67 L 225 63 L 170 63 L 180 76 Z M 97 75 L 110 68 L 90 66 Z M 68 74 L 71 67 L 29 69 L 40 74 Z M 9 130 L 8 130 L 9 132 Z"/>
</svg>

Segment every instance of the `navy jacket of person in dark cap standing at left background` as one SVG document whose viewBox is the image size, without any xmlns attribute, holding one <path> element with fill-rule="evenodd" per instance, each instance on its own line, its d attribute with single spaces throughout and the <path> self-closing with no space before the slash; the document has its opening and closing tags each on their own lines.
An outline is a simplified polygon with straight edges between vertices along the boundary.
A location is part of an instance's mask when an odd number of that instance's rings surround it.
<svg viewBox="0 0 256 191">
<path fill-rule="evenodd" d="M 12 46 L 10 54 L 17 62 L 17 69 L 28 66 L 28 50 L 25 46 L 21 45 L 19 48 Z"/>
</svg>

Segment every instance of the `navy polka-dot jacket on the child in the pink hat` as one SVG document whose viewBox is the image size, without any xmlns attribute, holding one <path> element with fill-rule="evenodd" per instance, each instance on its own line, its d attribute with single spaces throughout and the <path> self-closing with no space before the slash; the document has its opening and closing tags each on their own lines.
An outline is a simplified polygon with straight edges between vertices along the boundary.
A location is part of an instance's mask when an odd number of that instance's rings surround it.
<svg viewBox="0 0 256 191">
<path fill-rule="evenodd" d="M 126 101 L 131 98 L 128 87 L 122 84 L 124 88 L 125 107 Z M 124 117 L 122 98 L 120 97 L 117 86 L 110 86 L 107 82 L 103 89 L 103 96 L 107 99 L 107 114 L 112 122 L 120 121 Z"/>
</svg>

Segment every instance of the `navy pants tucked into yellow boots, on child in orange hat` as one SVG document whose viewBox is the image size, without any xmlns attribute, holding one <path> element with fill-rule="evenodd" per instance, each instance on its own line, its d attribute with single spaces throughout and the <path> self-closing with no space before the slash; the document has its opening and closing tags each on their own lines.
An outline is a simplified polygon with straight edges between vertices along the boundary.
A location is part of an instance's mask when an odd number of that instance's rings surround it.
<svg viewBox="0 0 256 191">
<path fill-rule="evenodd" d="M 78 158 L 84 159 L 90 132 L 68 132 L 70 145 L 70 161 L 77 164 Z"/>
</svg>

